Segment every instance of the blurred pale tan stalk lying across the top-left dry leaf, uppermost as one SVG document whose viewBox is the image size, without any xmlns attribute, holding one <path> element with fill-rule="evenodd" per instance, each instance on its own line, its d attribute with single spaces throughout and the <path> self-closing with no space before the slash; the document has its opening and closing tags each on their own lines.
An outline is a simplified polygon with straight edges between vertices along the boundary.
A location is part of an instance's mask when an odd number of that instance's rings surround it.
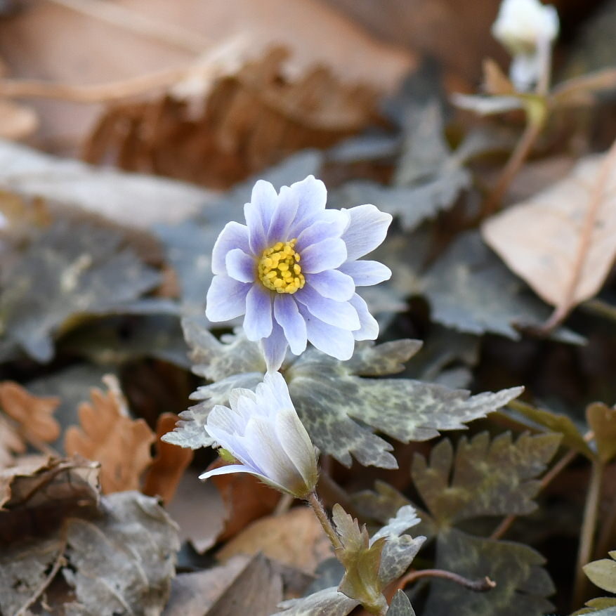
<svg viewBox="0 0 616 616">
<path fill-rule="evenodd" d="M 130 30 L 142 37 L 155 39 L 173 47 L 178 47 L 190 53 L 202 53 L 211 41 L 202 34 L 185 30 L 183 27 L 166 22 L 160 22 L 137 11 L 101 0 L 48 0 L 71 11 L 88 15 L 105 23 Z"/>
</svg>

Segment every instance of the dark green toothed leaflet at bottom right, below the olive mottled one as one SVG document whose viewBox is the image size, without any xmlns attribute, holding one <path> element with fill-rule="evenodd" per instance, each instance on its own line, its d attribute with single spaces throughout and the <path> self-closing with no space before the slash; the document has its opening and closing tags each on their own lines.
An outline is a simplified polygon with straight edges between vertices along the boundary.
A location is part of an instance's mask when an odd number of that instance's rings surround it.
<svg viewBox="0 0 616 616">
<path fill-rule="evenodd" d="M 552 609 L 546 597 L 554 591 L 543 563 L 544 558 L 528 546 L 447 530 L 438 536 L 436 566 L 467 579 L 487 576 L 496 586 L 478 593 L 435 579 L 425 612 L 450 616 L 454 605 L 456 616 L 542 616 Z"/>
</svg>

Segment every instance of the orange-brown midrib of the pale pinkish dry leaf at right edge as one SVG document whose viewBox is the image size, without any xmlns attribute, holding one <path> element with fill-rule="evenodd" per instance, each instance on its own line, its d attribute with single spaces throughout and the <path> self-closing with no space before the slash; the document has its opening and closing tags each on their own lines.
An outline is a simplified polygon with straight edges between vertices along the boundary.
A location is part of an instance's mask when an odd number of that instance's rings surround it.
<svg viewBox="0 0 616 616">
<path fill-rule="evenodd" d="M 582 277 L 582 270 L 584 269 L 586 256 L 588 255 L 588 250 L 591 245 L 593 230 L 596 225 L 599 210 L 603 204 L 605 185 L 610 179 L 610 171 L 612 171 L 612 167 L 615 164 L 616 141 L 612 143 L 608 154 L 605 156 L 605 160 L 601 165 L 598 177 L 594 183 L 594 190 L 592 191 L 588 214 L 586 214 L 586 218 L 584 218 L 584 226 L 582 227 L 582 234 L 579 239 L 579 244 L 577 245 L 572 276 L 567 290 L 565 291 L 565 297 L 560 305 L 556 307 L 556 310 L 554 310 L 546 324 L 542 327 L 543 332 L 551 332 L 554 327 L 560 325 L 565 317 L 570 313 L 573 306 L 575 306 L 575 291 L 577 289 L 577 285 L 579 284 L 579 279 Z"/>
</svg>

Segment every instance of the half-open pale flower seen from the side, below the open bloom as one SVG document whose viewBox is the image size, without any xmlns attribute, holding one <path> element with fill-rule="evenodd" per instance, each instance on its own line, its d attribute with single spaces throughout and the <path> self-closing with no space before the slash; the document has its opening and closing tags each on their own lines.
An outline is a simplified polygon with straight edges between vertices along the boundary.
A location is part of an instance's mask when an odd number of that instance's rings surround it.
<svg viewBox="0 0 616 616">
<path fill-rule="evenodd" d="M 317 483 L 315 448 L 303 427 L 287 383 L 270 372 L 256 391 L 234 389 L 231 408 L 216 405 L 207 418 L 207 431 L 241 464 L 207 471 L 199 479 L 228 473 L 250 473 L 280 492 L 306 498 Z"/>
</svg>

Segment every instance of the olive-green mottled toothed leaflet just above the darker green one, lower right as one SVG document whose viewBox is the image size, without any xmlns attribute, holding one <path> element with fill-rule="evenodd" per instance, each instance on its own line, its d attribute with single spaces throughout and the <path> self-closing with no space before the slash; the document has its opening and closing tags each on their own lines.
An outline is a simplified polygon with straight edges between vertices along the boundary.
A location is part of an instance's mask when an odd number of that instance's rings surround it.
<svg viewBox="0 0 616 616">
<path fill-rule="evenodd" d="M 476 516 L 530 513 L 539 491 L 535 478 L 560 442 L 560 434 L 523 434 L 514 443 L 509 433 L 490 441 L 484 432 L 471 440 L 461 438 L 454 459 L 452 444 L 443 440 L 433 447 L 429 466 L 415 454 L 412 477 L 440 525 Z"/>
</svg>

